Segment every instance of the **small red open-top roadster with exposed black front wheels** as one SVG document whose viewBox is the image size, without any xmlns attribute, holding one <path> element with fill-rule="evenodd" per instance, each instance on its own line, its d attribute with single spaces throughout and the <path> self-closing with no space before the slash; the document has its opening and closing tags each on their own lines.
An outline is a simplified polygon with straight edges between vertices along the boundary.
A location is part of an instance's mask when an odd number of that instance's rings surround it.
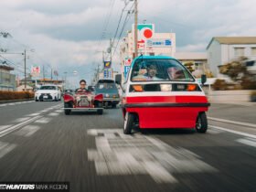
<svg viewBox="0 0 256 192">
<path fill-rule="evenodd" d="M 103 113 L 102 94 L 94 94 L 92 91 L 65 92 L 64 112 L 69 115 L 71 111 L 96 111 L 98 114 Z"/>
</svg>

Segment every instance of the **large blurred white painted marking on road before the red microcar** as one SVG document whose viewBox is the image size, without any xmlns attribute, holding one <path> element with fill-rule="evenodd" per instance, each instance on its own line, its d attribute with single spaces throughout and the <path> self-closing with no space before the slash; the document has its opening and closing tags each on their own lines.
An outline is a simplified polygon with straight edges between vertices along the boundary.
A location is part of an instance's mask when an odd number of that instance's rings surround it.
<svg viewBox="0 0 256 192">
<path fill-rule="evenodd" d="M 149 175 L 156 183 L 176 183 L 176 173 L 212 173 L 218 170 L 199 155 L 165 144 L 153 136 L 125 135 L 122 129 L 91 129 L 96 149 L 88 149 L 97 175 Z"/>
</svg>

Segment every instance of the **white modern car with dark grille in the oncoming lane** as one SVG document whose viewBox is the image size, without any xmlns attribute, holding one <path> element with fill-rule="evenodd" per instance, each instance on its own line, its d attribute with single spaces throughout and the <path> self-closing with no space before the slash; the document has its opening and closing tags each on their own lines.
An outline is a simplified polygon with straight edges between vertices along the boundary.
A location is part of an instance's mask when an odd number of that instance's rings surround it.
<svg viewBox="0 0 256 192">
<path fill-rule="evenodd" d="M 61 91 L 57 85 L 42 85 L 35 93 L 35 101 L 60 101 Z"/>
</svg>

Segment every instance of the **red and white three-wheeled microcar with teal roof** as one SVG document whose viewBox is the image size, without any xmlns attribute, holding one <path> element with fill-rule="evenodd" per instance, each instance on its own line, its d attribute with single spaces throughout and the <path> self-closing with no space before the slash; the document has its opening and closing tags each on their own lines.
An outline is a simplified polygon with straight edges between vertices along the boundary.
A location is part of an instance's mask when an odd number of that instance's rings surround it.
<svg viewBox="0 0 256 192">
<path fill-rule="evenodd" d="M 202 83 L 206 76 L 202 76 Z M 122 84 L 116 76 L 116 83 Z M 140 56 L 133 60 L 123 83 L 123 133 L 139 126 L 190 128 L 206 133 L 207 97 L 191 73 L 176 59 Z"/>
</svg>

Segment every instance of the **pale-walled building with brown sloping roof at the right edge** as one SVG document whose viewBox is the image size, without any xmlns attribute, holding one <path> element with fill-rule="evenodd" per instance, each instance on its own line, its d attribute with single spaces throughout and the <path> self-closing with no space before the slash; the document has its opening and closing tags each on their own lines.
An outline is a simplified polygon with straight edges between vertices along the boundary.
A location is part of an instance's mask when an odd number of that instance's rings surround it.
<svg viewBox="0 0 256 192">
<path fill-rule="evenodd" d="M 221 77 L 219 66 L 246 57 L 256 60 L 256 37 L 213 37 L 207 47 L 208 66 L 215 77 Z"/>
</svg>

